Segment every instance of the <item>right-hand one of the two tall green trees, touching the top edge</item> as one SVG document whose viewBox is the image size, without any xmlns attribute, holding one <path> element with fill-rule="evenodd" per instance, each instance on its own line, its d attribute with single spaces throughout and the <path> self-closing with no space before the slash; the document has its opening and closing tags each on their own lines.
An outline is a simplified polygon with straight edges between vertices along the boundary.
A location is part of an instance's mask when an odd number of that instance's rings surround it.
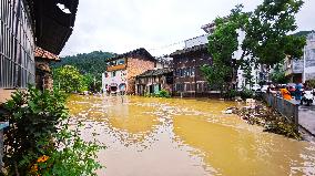
<svg viewBox="0 0 315 176">
<path fill-rule="evenodd" d="M 267 68 L 284 61 L 286 55 L 301 58 L 305 38 L 288 33 L 297 29 L 295 15 L 303 3 L 302 0 L 264 0 L 244 28 L 244 54 L 250 54 L 255 64 Z"/>
</svg>

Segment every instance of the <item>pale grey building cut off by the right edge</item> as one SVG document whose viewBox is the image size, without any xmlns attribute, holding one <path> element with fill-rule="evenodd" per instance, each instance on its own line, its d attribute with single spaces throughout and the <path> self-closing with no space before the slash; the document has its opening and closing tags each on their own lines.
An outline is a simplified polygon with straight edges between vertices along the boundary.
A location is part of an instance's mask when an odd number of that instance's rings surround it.
<svg viewBox="0 0 315 176">
<path fill-rule="evenodd" d="M 315 79 L 315 32 L 307 35 L 304 46 L 303 82 Z"/>
</svg>

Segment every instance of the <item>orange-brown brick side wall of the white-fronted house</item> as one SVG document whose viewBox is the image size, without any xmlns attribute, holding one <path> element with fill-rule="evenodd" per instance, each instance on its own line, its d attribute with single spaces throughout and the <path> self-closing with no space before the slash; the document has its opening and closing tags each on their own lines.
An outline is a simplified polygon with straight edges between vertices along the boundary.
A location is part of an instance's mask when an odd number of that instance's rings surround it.
<svg viewBox="0 0 315 176">
<path fill-rule="evenodd" d="M 135 76 L 154 69 L 154 62 L 143 59 L 129 58 L 128 64 L 128 94 L 135 94 Z"/>
</svg>

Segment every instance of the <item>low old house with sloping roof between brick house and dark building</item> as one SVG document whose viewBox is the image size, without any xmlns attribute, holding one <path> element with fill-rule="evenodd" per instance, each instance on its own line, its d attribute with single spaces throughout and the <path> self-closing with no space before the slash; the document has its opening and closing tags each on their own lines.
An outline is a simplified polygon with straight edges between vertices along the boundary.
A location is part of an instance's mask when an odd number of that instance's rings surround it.
<svg viewBox="0 0 315 176">
<path fill-rule="evenodd" d="M 149 70 L 135 79 L 135 94 L 158 94 L 161 90 L 172 93 L 173 70 Z"/>
</svg>

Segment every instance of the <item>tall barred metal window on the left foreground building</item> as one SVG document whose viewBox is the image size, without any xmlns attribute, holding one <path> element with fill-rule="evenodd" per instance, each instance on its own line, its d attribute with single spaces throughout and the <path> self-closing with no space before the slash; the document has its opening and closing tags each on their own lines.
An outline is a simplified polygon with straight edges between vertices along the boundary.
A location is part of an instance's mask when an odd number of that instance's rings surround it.
<svg viewBox="0 0 315 176">
<path fill-rule="evenodd" d="M 34 83 L 34 41 L 23 2 L 0 1 L 0 87 L 4 89 Z"/>
</svg>

